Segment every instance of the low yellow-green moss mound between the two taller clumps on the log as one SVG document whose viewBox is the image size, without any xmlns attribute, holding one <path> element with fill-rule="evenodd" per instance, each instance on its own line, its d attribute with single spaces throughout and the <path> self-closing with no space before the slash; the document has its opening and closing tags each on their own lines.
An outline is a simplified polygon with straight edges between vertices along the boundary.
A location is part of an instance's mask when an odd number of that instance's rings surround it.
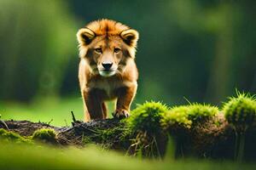
<svg viewBox="0 0 256 170">
<path fill-rule="evenodd" d="M 192 104 L 175 106 L 166 112 L 161 125 L 164 128 L 175 124 L 190 128 L 193 123 L 200 122 L 217 114 L 218 108 L 211 105 Z"/>
</svg>

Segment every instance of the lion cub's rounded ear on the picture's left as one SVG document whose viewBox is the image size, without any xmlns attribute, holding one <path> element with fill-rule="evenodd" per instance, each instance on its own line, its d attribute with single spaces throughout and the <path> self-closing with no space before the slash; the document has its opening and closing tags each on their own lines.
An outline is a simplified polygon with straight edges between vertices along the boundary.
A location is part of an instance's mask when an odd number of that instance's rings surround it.
<svg viewBox="0 0 256 170">
<path fill-rule="evenodd" d="M 77 33 L 79 44 L 88 45 L 95 37 L 95 33 L 88 28 L 81 28 Z"/>
</svg>

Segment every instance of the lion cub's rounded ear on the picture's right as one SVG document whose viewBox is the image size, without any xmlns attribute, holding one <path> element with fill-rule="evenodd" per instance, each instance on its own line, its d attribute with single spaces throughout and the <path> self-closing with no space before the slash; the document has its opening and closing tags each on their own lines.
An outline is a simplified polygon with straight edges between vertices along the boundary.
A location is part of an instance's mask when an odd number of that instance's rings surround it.
<svg viewBox="0 0 256 170">
<path fill-rule="evenodd" d="M 120 37 L 124 40 L 124 42 L 131 46 L 136 48 L 137 47 L 137 40 L 139 38 L 139 34 L 136 30 L 125 30 L 120 33 Z"/>
</svg>

